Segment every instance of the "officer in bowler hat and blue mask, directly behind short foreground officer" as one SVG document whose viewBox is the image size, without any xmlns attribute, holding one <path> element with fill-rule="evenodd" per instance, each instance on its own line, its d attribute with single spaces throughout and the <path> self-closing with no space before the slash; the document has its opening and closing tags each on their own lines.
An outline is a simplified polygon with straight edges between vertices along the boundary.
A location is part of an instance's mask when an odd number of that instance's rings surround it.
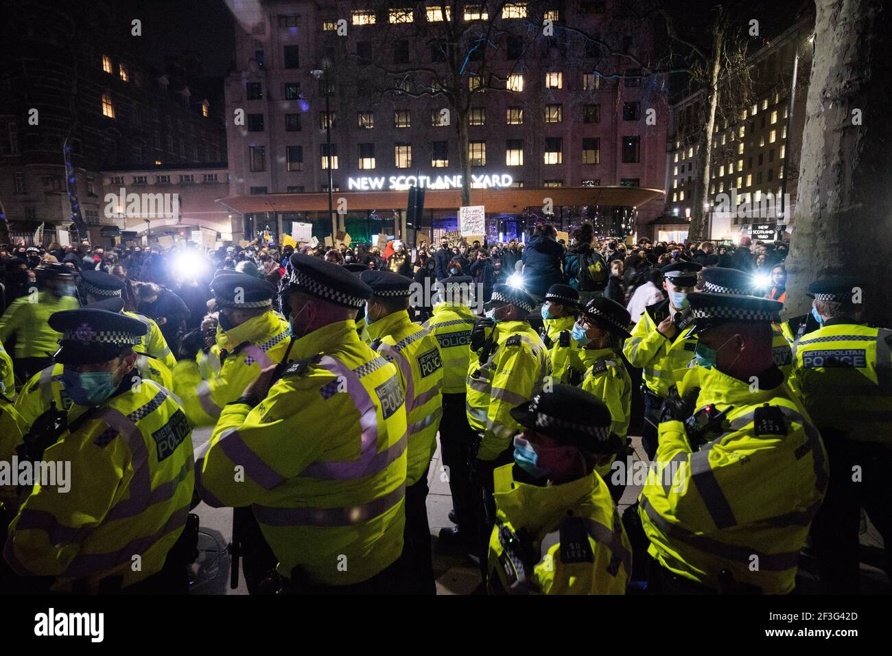
<svg viewBox="0 0 892 656">
<path fill-rule="evenodd" d="M 585 368 L 582 391 L 607 406 L 612 418 L 610 431 L 621 440 L 623 455 L 627 451 L 626 436 L 632 412 L 632 378 L 619 349 L 629 337 L 627 327 L 631 319 L 629 311 L 619 303 L 606 296 L 596 296 L 585 305 L 573 327 L 573 339 L 582 349 L 580 361 Z M 613 459 L 603 462 L 597 471 L 607 482 L 614 501 L 619 502 L 624 486 L 615 484 L 610 475 L 612 463 Z"/>
</svg>

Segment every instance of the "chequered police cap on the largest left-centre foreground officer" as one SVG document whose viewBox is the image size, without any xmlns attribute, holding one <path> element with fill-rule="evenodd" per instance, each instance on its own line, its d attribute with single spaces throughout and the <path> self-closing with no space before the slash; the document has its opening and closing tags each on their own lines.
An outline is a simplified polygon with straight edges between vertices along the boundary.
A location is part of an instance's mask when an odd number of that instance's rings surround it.
<svg viewBox="0 0 892 656">
<path fill-rule="evenodd" d="M 372 295 L 371 287 L 340 264 L 303 253 L 293 253 L 291 271 L 282 282 L 283 292 L 296 289 L 348 308 L 361 308 Z"/>
</svg>

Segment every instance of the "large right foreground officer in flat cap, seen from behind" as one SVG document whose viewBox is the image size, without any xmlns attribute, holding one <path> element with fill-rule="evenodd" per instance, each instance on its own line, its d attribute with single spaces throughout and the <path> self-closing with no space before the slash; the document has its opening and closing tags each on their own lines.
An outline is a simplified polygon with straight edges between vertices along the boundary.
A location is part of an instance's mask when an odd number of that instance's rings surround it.
<svg viewBox="0 0 892 656">
<path fill-rule="evenodd" d="M 827 453 L 772 360 L 781 303 L 692 294 L 698 366 L 661 410 L 639 499 L 655 592 L 788 594 L 827 487 Z"/>
</svg>

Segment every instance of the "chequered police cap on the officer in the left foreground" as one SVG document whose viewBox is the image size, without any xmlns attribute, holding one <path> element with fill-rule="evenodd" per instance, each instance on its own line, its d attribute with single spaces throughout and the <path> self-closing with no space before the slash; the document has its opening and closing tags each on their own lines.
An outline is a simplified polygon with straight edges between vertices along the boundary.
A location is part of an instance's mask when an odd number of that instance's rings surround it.
<svg viewBox="0 0 892 656">
<path fill-rule="evenodd" d="M 97 364 L 118 357 L 140 343 L 148 332 L 145 323 L 126 314 L 80 308 L 55 312 L 50 328 L 62 333 L 54 360 L 62 364 Z"/>
</svg>

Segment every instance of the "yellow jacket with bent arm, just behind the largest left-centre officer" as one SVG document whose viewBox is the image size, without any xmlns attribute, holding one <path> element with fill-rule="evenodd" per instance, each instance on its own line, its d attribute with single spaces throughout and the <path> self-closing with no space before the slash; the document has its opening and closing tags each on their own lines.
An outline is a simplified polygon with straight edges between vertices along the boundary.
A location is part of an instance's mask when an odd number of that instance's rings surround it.
<svg viewBox="0 0 892 656">
<path fill-rule="evenodd" d="M 288 350 L 288 322 L 274 311 L 252 317 L 232 330 L 219 330 L 219 373 L 202 380 L 198 362 L 181 360 L 174 368 L 174 391 L 195 426 L 213 426 L 223 406 L 235 401 L 260 371 L 278 364 Z"/>
</svg>

